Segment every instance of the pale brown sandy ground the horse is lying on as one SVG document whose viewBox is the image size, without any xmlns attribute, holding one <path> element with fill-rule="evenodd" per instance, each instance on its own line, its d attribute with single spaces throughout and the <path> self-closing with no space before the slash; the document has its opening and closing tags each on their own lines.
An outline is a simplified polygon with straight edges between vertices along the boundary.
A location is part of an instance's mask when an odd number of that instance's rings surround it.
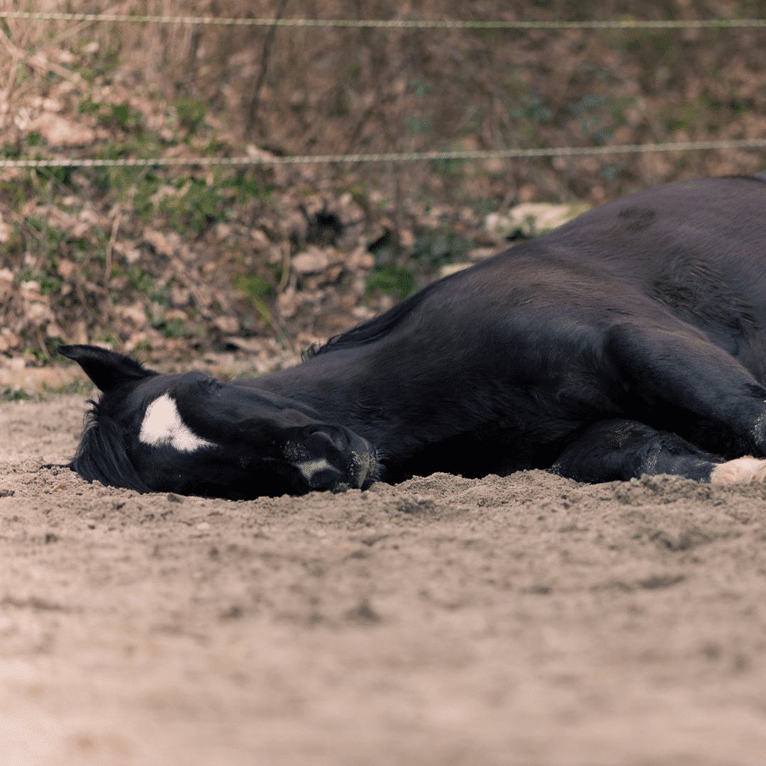
<svg viewBox="0 0 766 766">
<path fill-rule="evenodd" d="M 766 762 L 766 488 L 141 496 L 83 408 L 0 405 L 4 766 Z"/>
</svg>

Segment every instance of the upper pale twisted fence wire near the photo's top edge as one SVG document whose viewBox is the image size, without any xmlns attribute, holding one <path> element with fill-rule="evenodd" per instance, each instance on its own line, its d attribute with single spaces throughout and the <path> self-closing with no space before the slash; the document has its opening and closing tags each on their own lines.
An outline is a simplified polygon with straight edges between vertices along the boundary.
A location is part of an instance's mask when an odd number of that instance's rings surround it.
<svg viewBox="0 0 766 766">
<path fill-rule="evenodd" d="M 681 19 L 678 21 L 452 21 L 352 18 L 214 18 L 208 16 L 133 16 L 110 13 L 0 11 L 0 18 L 31 21 L 123 21 L 132 24 L 186 24 L 241 27 L 340 27 L 368 29 L 708 29 L 766 28 L 766 18 Z"/>
</svg>

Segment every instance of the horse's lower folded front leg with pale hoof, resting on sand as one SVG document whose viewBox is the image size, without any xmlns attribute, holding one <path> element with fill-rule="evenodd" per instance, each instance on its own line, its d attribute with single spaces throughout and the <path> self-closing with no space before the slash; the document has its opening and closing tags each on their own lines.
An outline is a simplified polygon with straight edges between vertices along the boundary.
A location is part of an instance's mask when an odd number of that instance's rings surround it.
<svg viewBox="0 0 766 766">
<path fill-rule="evenodd" d="M 766 479 L 766 460 L 721 457 L 647 424 L 599 421 L 578 435 L 549 469 L 576 481 L 627 481 L 647 473 L 672 473 L 712 484 L 751 483 Z"/>
</svg>

